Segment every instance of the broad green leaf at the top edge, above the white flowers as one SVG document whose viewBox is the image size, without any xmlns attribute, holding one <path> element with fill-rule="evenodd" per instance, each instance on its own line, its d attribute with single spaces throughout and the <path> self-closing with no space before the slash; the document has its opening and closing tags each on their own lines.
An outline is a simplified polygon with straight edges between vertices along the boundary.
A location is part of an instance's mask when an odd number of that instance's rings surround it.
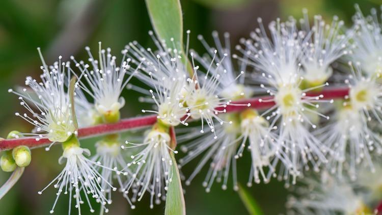
<svg viewBox="0 0 382 215">
<path fill-rule="evenodd" d="M 156 35 L 166 40 L 168 47 L 173 47 L 173 38 L 177 49 L 181 50 L 183 18 L 179 0 L 146 0 L 146 5 Z"/>
</svg>

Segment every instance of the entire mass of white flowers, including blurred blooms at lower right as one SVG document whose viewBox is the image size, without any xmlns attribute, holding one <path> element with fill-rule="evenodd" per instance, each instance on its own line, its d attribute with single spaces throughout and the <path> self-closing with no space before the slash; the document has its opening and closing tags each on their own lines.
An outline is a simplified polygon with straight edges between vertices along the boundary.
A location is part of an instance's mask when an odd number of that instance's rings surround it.
<svg viewBox="0 0 382 215">
<path fill-rule="evenodd" d="M 112 192 L 118 190 L 115 182 L 131 208 L 146 193 L 150 208 L 160 204 L 178 174 L 177 142 L 184 153 L 179 169 L 201 157 L 191 175 L 182 174 L 186 185 L 210 162 L 203 181 L 206 192 L 214 181 L 226 190 L 230 172 L 233 189 L 238 190 L 236 160 L 248 154 L 248 186 L 272 177 L 290 186 L 310 169 L 329 170 L 321 171 L 320 182 L 305 178 L 315 193 L 301 201 L 291 198 L 291 211 L 369 211 L 354 184 L 367 185 L 360 184 L 366 180 L 358 178 L 360 166 L 379 170 L 373 160 L 382 153 L 382 26 L 376 10 L 365 17 L 356 8 L 351 29 L 337 16 L 328 23 L 315 15 L 310 26 L 306 10 L 299 21 L 277 19 L 268 28 L 259 18 L 259 28 L 240 40 L 236 54 L 231 53 L 228 33 L 213 32 L 213 46 L 199 35 L 204 54 L 189 49 L 190 31 L 185 45 L 150 31 L 155 48 L 130 42 L 120 64 L 101 43 L 98 59 L 85 48 L 89 63 L 74 57 L 62 62 L 60 56 L 59 62 L 47 66 L 39 49 L 41 81 L 26 77 L 26 88 L 9 92 L 18 95 L 29 112 L 16 116 L 35 126 L 21 136 L 62 143 L 59 163 L 66 164 L 48 184 L 58 189 L 50 212 L 61 193 L 70 195 L 69 205 L 73 196 L 79 213 L 85 201 L 94 211 L 89 197 L 107 212 Z M 348 93 L 334 101 L 323 93 L 328 85 L 345 87 Z M 120 110 L 131 102 L 121 96 L 125 88 L 144 95 L 139 100 L 152 109 L 142 112 L 155 114 L 156 122 L 142 132 L 140 143 L 122 140 L 119 132 L 108 133 L 88 158 L 90 151 L 80 147 L 78 129 L 118 124 Z M 260 97 L 251 99 L 255 94 Z M 268 109 L 256 110 L 252 103 L 266 103 Z M 308 188 L 298 193 L 312 192 Z"/>
</svg>

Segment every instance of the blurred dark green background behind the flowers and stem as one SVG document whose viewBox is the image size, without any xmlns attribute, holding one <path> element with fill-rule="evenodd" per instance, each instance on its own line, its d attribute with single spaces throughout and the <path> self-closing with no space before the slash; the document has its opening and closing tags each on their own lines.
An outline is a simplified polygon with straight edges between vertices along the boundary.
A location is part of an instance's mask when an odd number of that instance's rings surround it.
<svg viewBox="0 0 382 215">
<path fill-rule="evenodd" d="M 213 30 L 231 34 L 231 44 L 236 44 L 241 37 L 248 37 L 257 26 L 257 17 L 264 23 L 276 17 L 286 18 L 293 15 L 301 17 L 302 8 L 313 14 L 321 14 L 326 19 L 338 15 L 349 25 L 354 13 L 353 5 L 360 4 L 365 13 L 370 8 L 379 7 L 379 0 L 183 0 L 181 1 L 184 28 L 191 30 L 190 46 L 197 51 L 204 51 L 198 34 L 211 41 Z M 17 97 L 7 93 L 7 89 L 22 86 L 27 75 L 38 77 L 40 60 L 36 48 L 41 47 L 45 60 L 52 64 L 59 55 L 69 59 L 87 60 L 84 50 L 90 46 L 98 48 L 98 41 L 103 47 L 111 47 L 117 56 L 124 45 L 137 40 L 144 46 L 152 47 L 147 32 L 151 30 L 149 16 L 143 0 L 2 0 L 0 1 L 0 137 L 6 137 L 11 130 L 23 132 L 31 126 L 16 118 L 14 112 L 21 112 Z M 128 96 L 127 96 L 128 94 Z M 137 103 L 139 95 L 124 92 L 126 106 L 123 117 L 137 116 L 142 105 Z M 84 141 L 85 146 L 92 146 L 96 139 Z M 32 164 L 26 168 L 17 185 L 0 200 L 0 214 L 48 214 L 56 197 L 55 189 L 50 187 L 43 195 L 38 195 L 62 169 L 57 159 L 61 147 L 51 151 L 33 150 Z M 178 155 L 182 156 L 182 155 Z M 249 158 L 244 156 L 238 162 L 238 178 L 247 183 Z M 196 163 L 182 168 L 189 175 Z M 187 214 L 247 214 L 237 193 L 230 189 L 222 191 L 216 183 L 210 193 L 205 193 L 201 183 L 206 168 L 196 177 L 190 186 L 185 187 Z M 0 172 L 0 182 L 9 177 Z M 284 204 L 287 190 L 283 182 L 272 180 L 269 184 L 254 185 L 248 189 L 258 201 L 265 214 L 285 212 Z M 95 204 L 94 204 L 95 205 Z M 165 204 L 149 209 L 148 199 L 137 204 L 137 209 L 130 211 L 128 204 L 118 193 L 114 194 L 114 203 L 108 214 L 162 214 Z M 54 214 L 67 214 L 68 199 L 62 196 Z M 95 206 L 98 208 L 98 206 Z M 83 214 L 90 213 L 83 206 Z M 96 211 L 97 213 L 97 211 Z"/>
</svg>

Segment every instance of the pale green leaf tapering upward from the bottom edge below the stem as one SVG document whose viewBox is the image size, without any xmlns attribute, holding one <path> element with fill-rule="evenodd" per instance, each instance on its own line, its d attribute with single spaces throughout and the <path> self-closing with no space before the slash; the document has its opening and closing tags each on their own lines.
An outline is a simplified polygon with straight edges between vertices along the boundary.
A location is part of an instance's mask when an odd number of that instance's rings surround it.
<svg viewBox="0 0 382 215">
<path fill-rule="evenodd" d="M 179 170 L 176 165 L 174 153 L 170 153 L 173 165 L 171 172 L 173 174 L 172 181 L 169 182 L 169 189 L 166 195 L 165 215 L 184 215 L 186 208 L 184 203 L 183 188 L 180 182 Z"/>
</svg>

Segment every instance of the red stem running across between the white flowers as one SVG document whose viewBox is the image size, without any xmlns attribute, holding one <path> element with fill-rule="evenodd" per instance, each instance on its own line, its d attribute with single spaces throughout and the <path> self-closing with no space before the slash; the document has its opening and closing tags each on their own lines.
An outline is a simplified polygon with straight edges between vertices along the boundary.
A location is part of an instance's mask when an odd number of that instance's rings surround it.
<svg viewBox="0 0 382 215">
<path fill-rule="evenodd" d="M 327 88 L 323 89 L 320 92 L 311 92 L 307 93 L 307 96 L 318 96 L 323 95 L 324 99 L 336 99 L 336 98 L 343 98 L 344 96 L 348 95 L 348 88 Z M 233 102 L 235 104 L 248 104 L 250 103 L 251 106 L 248 107 L 247 105 L 242 106 L 234 106 L 234 105 L 228 105 L 225 109 L 227 113 L 229 112 L 238 112 L 245 110 L 247 108 L 252 109 L 265 109 L 267 107 L 271 107 L 275 105 L 274 101 L 268 101 L 268 102 L 260 102 L 259 99 L 262 100 L 269 100 L 272 99 L 272 96 L 262 96 L 262 97 L 255 97 L 245 100 L 240 100 L 237 102 Z M 223 109 L 219 109 L 222 111 Z M 121 121 L 113 124 L 101 124 L 86 128 L 80 128 L 78 129 L 78 137 L 79 138 L 89 138 L 93 136 L 99 136 L 99 135 L 105 135 L 107 133 L 114 133 L 118 131 L 124 131 L 132 128 L 139 128 L 144 126 L 153 125 L 156 122 L 156 115 L 150 115 L 145 117 L 134 117 L 134 118 L 128 118 L 128 119 L 122 119 Z M 19 139 L 11 139 L 11 140 L 0 140 L 0 151 L 2 150 L 9 150 L 13 149 L 16 146 L 28 146 L 28 147 L 41 147 L 46 144 L 49 144 L 50 141 L 48 139 L 41 139 L 39 141 L 36 141 L 35 138 L 19 138 Z"/>
</svg>

